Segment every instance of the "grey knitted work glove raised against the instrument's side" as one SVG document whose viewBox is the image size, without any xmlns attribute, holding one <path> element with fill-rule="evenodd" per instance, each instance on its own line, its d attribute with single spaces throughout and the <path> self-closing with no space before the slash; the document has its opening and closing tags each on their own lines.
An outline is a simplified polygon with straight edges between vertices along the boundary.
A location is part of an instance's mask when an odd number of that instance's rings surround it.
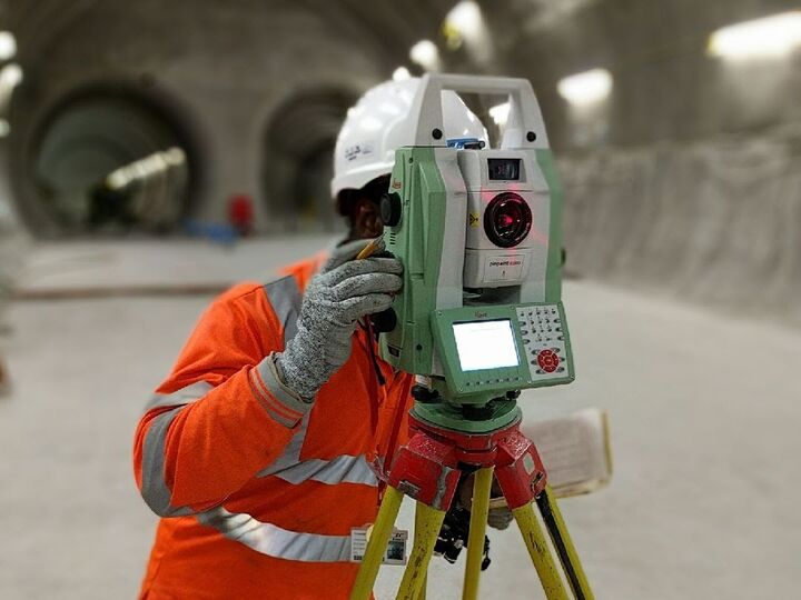
<svg viewBox="0 0 801 600">
<path fill-rule="evenodd" d="M 388 309 L 403 284 L 398 260 L 354 260 L 369 241 L 358 240 L 334 250 L 306 287 L 297 333 L 276 357 L 278 377 L 306 402 L 349 358 L 358 320 Z"/>
</svg>

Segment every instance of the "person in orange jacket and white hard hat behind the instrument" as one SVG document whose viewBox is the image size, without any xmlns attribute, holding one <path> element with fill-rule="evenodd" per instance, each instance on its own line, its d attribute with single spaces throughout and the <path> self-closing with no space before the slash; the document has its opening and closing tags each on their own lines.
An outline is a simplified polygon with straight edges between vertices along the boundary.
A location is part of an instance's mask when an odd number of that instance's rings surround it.
<svg viewBox="0 0 801 600">
<path fill-rule="evenodd" d="M 348 112 L 332 182 L 346 240 L 217 298 L 146 408 L 136 481 L 161 519 L 141 599 L 348 597 L 352 528 L 376 518 L 376 471 L 405 440 L 413 383 L 365 320 L 392 304 L 402 266 L 355 257 L 383 231 L 378 200 L 395 149 L 413 142 L 417 86 L 383 83 Z M 453 92 L 444 120 L 458 143 L 486 139 Z"/>
</svg>

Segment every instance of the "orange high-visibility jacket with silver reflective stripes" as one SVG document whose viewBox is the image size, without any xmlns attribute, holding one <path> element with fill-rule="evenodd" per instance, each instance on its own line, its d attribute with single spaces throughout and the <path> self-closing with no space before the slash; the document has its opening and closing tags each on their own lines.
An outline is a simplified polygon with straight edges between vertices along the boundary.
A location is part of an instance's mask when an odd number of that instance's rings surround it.
<svg viewBox="0 0 801 600">
<path fill-rule="evenodd" d="M 277 398 L 260 368 L 294 336 L 320 259 L 271 283 L 244 283 L 200 318 L 137 428 L 136 480 L 161 518 L 142 583 L 148 600 L 347 598 L 350 529 L 372 523 L 412 378 L 369 352 L 362 329 L 314 404 Z M 402 443 L 406 423 L 400 426 Z"/>
</svg>

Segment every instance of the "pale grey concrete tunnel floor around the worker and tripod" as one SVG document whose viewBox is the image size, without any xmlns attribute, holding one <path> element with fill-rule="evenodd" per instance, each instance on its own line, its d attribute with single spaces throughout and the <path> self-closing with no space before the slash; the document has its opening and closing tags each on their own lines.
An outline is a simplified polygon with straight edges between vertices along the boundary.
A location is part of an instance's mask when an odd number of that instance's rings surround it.
<svg viewBox="0 0 801 600">
<path fill-rule="evenodd" d="M 148 250 L 151 262 L 116 252 L 154 277 L 159 263 L 184 260 L 184 249 L 165 248 Z M 300 250 L 248 256 L 278 263 Z M 49 251 L 69 260 L 69 250 Z M 215 264 L 220 277 L 229 272 L 226 260 Z M 117 270 L 113 261 L 106 268 Z M 78 276 L 59 284 L 86 284 Z M 134 486 L 132 431 L 207 301 L 12 307 L 13 336 L 0 338 L 14 383 L 0 400 L 0 598 L 135 597 L 155 518 Z M 612 486 L 562 503 L 596 597 L 795 597 L 801 331 L 586 281 L 568 282 L 565 301 L 578 379 L 530 393 L 523 406 L 528 419 L 610 411 Z M 493 533 L 492 543 L 483 597 L 542 597 L 516 531 Z M 432 571 L 429 598 L 459 598 L 458 566 L 437 560 Z M 384 569 L 379 599 L 399 577 Z"/>
</svg>

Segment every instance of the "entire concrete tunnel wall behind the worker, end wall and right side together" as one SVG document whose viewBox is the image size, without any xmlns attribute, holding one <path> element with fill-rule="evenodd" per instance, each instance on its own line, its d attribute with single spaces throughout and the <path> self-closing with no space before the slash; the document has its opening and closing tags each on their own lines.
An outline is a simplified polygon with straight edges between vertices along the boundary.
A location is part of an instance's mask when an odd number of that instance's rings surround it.
<svg viewBox="0 0 801 600">
<path fill-rule="evenodd" d="M 445 50 L 452 1 L 21 3 L 9 14 L 26 68 L 9 140 L 20 212 L 48 233 L 24 177 L 36 133 L 65 94 L 101 83 L 136 89 L 187 132 L 198 157 L 192 217 L 224 219 L 228 196 L 245 192 L 259 229 L 283 231 L 293 152 L 304 150 L 293 144 L 330 139 L 336 119 L 312 110 L 324 133 L 298 138 L 291 123 L 304 112 L 279 113 L 297 99 L 345 106 L 429 38 L 445 70 L 532 80 L 560 157 L 573 272 L 799 320 L 801 56 L 732 67 L 705 54 L 715 28 L 793 2 L 479 3 L 493 40 L 484 53 Z M 556 82 L 595 67 L 612 72 L 612 96 L 576 113 Z M 270 131 L 287 151 L 265 150 Z"/>
</svg>

